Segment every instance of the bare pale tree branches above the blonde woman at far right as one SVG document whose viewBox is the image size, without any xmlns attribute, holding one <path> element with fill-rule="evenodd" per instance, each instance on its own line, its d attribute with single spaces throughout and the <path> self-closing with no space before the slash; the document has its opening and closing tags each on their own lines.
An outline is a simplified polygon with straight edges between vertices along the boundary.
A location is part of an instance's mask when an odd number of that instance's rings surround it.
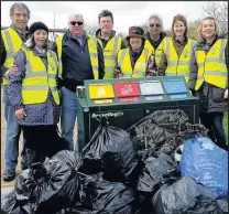
<svg viewBox="0 0 229 214">
<path fill-rule="evenodd" d="M 203 7 L 205 11 L 205 15 L 214 17 L 220 26 L 221 34 L 228 34 L 228 2 L 219 1 L 214 2 L 210 1 L 206 7 Z"/>
</svg>

